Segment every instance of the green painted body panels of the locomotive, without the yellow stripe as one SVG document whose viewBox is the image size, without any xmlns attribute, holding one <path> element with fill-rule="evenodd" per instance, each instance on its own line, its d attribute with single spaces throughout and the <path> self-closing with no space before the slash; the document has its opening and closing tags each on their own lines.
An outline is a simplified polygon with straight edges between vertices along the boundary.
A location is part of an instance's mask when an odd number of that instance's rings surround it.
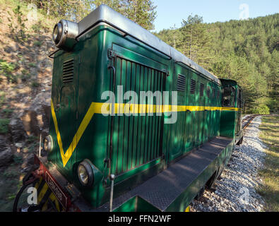
<svg viewBox="0 0 279 226">
<path fill-rule="evenodd" d="M 69 60 L 73 60 L 73 80 L 65 83 L 63 76 L 68 69 L 65 69 L 65 62 Z M 109 66 L 116 69 L 115 75 Z M 72 52 L 60 51 L 55 54 L 52 101 L 64 150 L 73 142 L 91 103 L 106 101 L 101 99 L 103 92 L 110 90 L 116 94 L 117 85 L 123 85 L 124 93 L 132 90 L 138 96 L 140 91 L 177 91 L 179 75 L 184 76 L 185 87 L 184 91 L 178 91 L 177 105 L 221 107 L 222 87 L 217 83 L 129 36 L 124 37 L 117 30 L 104 25 L 94 28 L 81 37 Z M 196 84 L 194 88 L 193 81 Z M 190 92 L 191 88 L 194 93 Z M 119 102 L 117 95 L 116 98 L 116 102 Z M 171 100 L 170 96 L 170 105 Z M 125 100 L 124 103 L 126 102 L 128 101 Z M 146 100 L 146 103 L 155 104 L 155 100 Z M 57 165 L 57 169 L 96 208 L 108 200 L 109 173 L 117 175 L 115 193 L 120 195 L 124 189 L 158 174 L 172 161 L 215 136 L 234 137 L 237 114 L 219 110 L 178 112 L 176 124 L 164 124 L 163 115 L 104 117 L 102 114 L 94 114 L 65 167 L 51 117 L 49 133 L 53 138 L 54 148 L 48 159 Z M 93 163 L 100 173 L 98 177 L 102 178 L 96 180 L 91 188 L 84 188 L 78 182 L 77 167 L 84 159 Z M 105 163 L 108 159 L 110 167 Z M 198 179 L 193 192 L 209 179 L 211 173 L 213 174 L 213 168 L 205 172 L 203 179 Z M 130 185 L 126 186 L 128 181 Z M 180 204 L 177 201 L 175 206 L 189 203 L 192 194 L 194 193 L 189 195 L 187 201 Z M 141 198 L 138 201 L 144 203 Z M 127 204 L 132 206 L 131 210 L 134 209 L 133 202 L 131 200 Z"/>
</svg>

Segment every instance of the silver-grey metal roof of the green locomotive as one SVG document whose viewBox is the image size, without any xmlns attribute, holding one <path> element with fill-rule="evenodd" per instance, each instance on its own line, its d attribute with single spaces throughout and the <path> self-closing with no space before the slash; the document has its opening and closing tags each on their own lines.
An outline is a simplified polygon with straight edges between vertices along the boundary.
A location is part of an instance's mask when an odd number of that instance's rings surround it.
<svg viewBox="0 0 279 226">
<path fill-rule="evenodd" d="M 99 6 L 95 9 L 95 11 L 91 12 L 78 23 L 78 37 L 84 32 L 90 30 L 90 28 L 93 28 L 93 26 L 102 22 L 112 25 L 114 28 L 118 28 L 121 32 L 126 33 L 126 35 L 130 35 L 131 37 L 135 37 L 137 40 L 141 40 L 150 47 L 153 47 L 168 57 L 171 57 L 174 61 L 186 64 L 191 69 L 202 73 L 204 76 L 210 78 L 210 80 L 220 84 L 220 80 L 212 73 L 206 71 L 206 69 L 203 69 L 201 66 L 188 57 L 185 57 L 184 54 L 177 51 L 173 47 L 170 47 L 169 44 L 163 42 L 148 30 L 142 28 L 140 25 L 122 16 L 120 13 L 114 11 L 106 5 Z"/>
</svg>

